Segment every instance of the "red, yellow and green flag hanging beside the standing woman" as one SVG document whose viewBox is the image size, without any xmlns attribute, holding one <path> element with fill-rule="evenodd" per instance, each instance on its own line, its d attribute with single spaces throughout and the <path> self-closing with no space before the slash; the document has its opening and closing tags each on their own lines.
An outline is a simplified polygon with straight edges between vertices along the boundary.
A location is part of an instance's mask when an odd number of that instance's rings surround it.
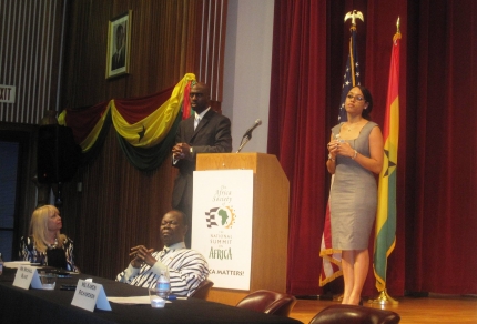
<svg viewBox="0 0 477 324">
<path fill-rule="evenodd" d="M 384 119 L 384 164 L 379 174 L 376 236 L 374 244 L 374 274 L 376 288 L 386 288 L 387 257 L 396 244 L 396 182 L 397 144 L 399 140 L 399 41 L 393 38 L 393 50 L 387 88 L 386 115 Z"/>
</svg>

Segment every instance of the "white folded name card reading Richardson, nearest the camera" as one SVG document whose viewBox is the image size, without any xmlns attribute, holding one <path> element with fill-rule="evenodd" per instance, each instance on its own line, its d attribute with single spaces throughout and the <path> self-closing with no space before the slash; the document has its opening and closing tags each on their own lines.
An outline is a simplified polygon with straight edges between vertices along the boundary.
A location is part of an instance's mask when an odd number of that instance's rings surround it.
<svg viewBox="0 0 477 324">
<path fill-rule="evenodd" d="M 99 310 L 111 311 L 103 285 L 93 282 L 79 280 L 71 305 L 94 312 L 94 306 Z"/>
</svg>

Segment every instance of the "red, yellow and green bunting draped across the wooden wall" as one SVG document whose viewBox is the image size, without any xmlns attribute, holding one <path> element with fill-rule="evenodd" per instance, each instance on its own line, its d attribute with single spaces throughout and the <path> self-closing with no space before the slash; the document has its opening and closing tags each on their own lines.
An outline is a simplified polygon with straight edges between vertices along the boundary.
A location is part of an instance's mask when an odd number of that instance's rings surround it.
<svg viewBox="0 0 477 324">
<path fill-rule="evenodd" d="M 179 122 L 191 114 L 189 91 L 194 80 L 195 75 L 187 73 L 175 87 L 152 95 L 112 99 L 81 110 L 65 109 L 58 120 L 73 130 L 85 155 L 83 163 L 94 155 L 92 152 L 98 152 L 112 123 L 129 161 L 139 170 L 154 170 L 170 153 Z"/>
</svg>

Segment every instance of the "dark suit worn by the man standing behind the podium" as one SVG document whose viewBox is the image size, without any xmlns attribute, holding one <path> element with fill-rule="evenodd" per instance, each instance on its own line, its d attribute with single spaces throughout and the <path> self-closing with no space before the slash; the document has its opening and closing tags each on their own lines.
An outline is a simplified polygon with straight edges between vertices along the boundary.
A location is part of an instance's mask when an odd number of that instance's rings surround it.
<svg viewBox="0 0 477 324">
<path fill-rule="evenodd" d="M 229 118 L 207 111 L 194 131 L 194 115 L 181 121 L 175 136 L 175 143 L 187 143 L 193 146 L 192 160 L 179 160 L 179 168 L 172 193 L 172 207 L 179 209 L 191 217 L 192 212 L 192 175 L 195 170 L 197 153 L 230 153 L 232 152 L 231 121 Z M 181 205 L 190 205 L 183 210 Z"/>
</svg>

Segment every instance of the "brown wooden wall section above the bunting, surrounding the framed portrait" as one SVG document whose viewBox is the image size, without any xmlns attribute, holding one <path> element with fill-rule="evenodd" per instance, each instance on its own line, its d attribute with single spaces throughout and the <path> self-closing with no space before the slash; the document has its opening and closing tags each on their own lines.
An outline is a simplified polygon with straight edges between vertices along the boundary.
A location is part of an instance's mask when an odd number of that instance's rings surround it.
<svg viewBox="0 0 477 324">
<path fill-rule="evenodd" d="M 226 0 L 70 3 L 63 108 L 149 95 L 190 72 L 211 83 L 212 99 L 221 100 Z M 132 10 L 130 74 L 105 79 L 108 23 L 128 10 Z"/>
</svg>

